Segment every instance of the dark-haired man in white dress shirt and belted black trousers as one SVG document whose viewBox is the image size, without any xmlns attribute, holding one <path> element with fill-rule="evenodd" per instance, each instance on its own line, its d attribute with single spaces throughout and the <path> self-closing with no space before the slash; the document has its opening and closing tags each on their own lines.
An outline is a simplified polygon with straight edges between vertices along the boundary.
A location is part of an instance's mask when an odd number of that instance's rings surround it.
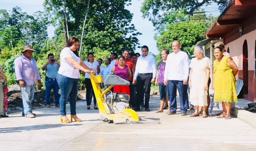
<svg viewBox="0 0 256 151">
<path fill-rule="evenodd" d="M 155 64 L 155 57 L 149 54 L 149 47 L 146 45 L 141 48 L 142 56 L 137 60 L 133 85 L 137 84 L 136 95 L 136 111 L 140 111 L 141 93 L 145 86 L 145 111 L 149 110 L 149 97 L 151 83 L 155 82 L 157 68 Z"/>
</svg>

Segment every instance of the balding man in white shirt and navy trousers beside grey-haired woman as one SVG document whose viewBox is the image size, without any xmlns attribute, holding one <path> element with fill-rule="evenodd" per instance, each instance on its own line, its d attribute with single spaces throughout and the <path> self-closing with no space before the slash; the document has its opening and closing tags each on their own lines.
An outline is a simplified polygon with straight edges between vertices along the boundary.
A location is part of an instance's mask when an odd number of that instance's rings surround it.
<svg viewBox="0 0 256 151">
<path fill-rule="evenodd" d="M 179 101 L 181 105 L 181 115 L 186 115 L 188 108 L 187 96 L 187 77 L 189 76 L 189 56 L 187 53 L 180 50 L 180 42 L 174 40 L 172 44 L 173 53 L 167 56 L 164 83 L 168 86 L 170 91 L 170 113 L 169 115 L 176 114 L 177 101 L 176 93 L 177 88 L 179 91 Z"/>
</svg>

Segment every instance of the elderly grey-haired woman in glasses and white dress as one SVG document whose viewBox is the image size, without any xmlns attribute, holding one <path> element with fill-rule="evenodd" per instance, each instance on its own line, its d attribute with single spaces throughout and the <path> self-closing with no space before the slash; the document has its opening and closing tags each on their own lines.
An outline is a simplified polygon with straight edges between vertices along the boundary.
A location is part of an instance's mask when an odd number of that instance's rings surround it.
<svg viewBox="0 0 256 151">
<path fill-rule="evenodd" d="M 189 87 L 190 97 L 189 102 L 195 106 L 195 112 L 190 117 L 199 116 L 203 108 L 203 118 L 207 118 L 207 90 L 208 80 L 210 76 L 210 59 L 203 56 L 203 48 L 197 46 L 194 49 L 196 58 L 191 60 L 189 65 Z"/>
</svg>

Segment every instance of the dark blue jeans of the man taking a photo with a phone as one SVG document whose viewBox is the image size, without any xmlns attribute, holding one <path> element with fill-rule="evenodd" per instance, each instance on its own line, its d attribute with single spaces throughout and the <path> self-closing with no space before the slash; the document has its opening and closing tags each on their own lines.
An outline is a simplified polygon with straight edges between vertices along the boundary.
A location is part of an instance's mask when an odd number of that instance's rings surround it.
<svg viewBox="0 0 256 151">
<path fill-rule="evenodd" d="M 59 84 L 57 80 L 52 80 L 50 78 L 47 78 L 47 80 L 45 81 L 45 98 L 46 98 L 45 105 L 51 104 L 50 102 L 51 89 L 53 89 L 55 105 L 58 105 L 59 104 Z"/>
</svg>

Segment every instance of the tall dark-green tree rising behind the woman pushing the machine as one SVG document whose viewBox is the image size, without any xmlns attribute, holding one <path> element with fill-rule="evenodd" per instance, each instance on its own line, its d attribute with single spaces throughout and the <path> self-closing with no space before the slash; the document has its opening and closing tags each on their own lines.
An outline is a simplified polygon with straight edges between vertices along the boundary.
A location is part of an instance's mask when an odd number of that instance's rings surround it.
<svg viewBox="0 0 256 151">
<path fill-rule="evenodd" d="M 130 0 L 90 2 L 81 56 L 98 49 L 120 54 L 123 48 L 131 51 L 136 49 L 139 44 L 136 36 L 141 33 L 131 24 L 133 14 L 125 9 L 125 5 L 130 5 L 127 2 Z M 63 3 L 61 0 L 46 0 L 44 8 L 52 16 L 52 20 L 58 19 L 58 22 L 62 22 L 65 20 L 63 5 L 66 8 L 70 35 L 80 39 L 88 1 L 66 0 Z"/>
</svg>

